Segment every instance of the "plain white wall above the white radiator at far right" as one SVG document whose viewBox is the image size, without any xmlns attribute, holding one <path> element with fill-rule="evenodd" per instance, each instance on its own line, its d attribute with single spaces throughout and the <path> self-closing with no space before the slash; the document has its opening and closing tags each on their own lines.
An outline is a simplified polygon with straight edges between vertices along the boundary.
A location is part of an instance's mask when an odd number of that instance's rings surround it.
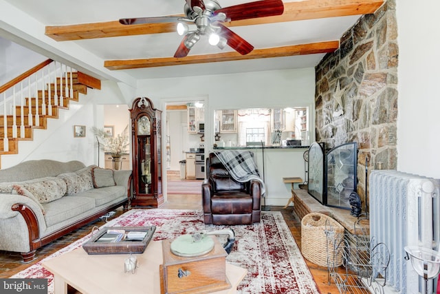
<svg viewBox="0 0 440 294">
<path fill-rule="evenodd" d="M 437 0 L 396 1 L 399 42 L 397 169 L 440 178 Z"/>
</svg>

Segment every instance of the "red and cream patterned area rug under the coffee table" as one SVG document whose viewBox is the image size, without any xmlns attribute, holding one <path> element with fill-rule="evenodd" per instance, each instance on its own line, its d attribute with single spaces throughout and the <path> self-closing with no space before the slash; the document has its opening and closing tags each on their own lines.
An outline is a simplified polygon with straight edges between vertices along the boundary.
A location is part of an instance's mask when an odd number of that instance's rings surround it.
<svg viewBox="0 0 440 294">
<path fill-rule="evenodd" d="M 153 240 L 176 238 L 184 233 L 214 231 L 223 226 L 206 225 L 197 210 L 132 209 L 105 226 L 156 226 Z M 259 224 L 233 226 L 236 241 L 226 261 L 248 269 L 238 293 L 320 293 L 281 212 L 262 211 Z M 80 247 L 85 236 L 45 258 L 54 258 Z M 53 293 L 53 276 L 40 262 L 12 277 L 45 277 Z"/>
</svg>

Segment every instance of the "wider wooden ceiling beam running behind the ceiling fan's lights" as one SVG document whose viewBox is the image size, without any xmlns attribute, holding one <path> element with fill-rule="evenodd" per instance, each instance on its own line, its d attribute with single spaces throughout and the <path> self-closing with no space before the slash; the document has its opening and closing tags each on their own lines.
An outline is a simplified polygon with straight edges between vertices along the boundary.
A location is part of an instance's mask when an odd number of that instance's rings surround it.
<svg viewBox="0 0 440 294">
<path fill-rule="evenodd" d="M 284 13 L 276 17 L 261 17 L 225 23 L 228 27 L 257 25 L 326 17 L 370 14 L 380 8 L 384 0 L 306 0 L 284 3 Z M 175 32 L 175 23 L 149 23 L 122 25 L 119 21 L 83 23 L 76 25 L 46 26 L 45 34 L 56 41 L 131 36 L 137 34 L 159 34 Z"/>
</svg>

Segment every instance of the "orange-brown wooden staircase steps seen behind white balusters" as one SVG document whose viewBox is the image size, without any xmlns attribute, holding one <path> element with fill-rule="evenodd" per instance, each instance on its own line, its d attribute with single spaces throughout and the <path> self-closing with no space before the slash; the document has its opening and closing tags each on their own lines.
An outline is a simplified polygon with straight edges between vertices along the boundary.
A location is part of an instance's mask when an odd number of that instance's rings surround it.
<svg viewBox="0 0 440 294">
<path fill-rule="evenodd" d="M 47 61 L 45 62 L 47 63 Z M 67 76 L 67 78 L 65 76 Z M 80 93 L 87 94 L 87 88 L 92 88 L 97 90 L 100 90 L 101 88 L 100 80 L 92 76 L 89 76 L 87 74 L 84 74 L 82 72 L 73 72 L 73 71 L 65 72 L 65 76 L 62 77 L 63 81 L 61 81 L 61 77 L 56 77 L 54 78 L 54 83 L 43 84 L 45 89 L 41 89 L 38 90 L 37 92 L 32 93 L 31 97 L 27 96 L 23 98 L 24 101 L 23 107 L 21 105 L 14 106 L 15 115 L 7 114 L 6 120 L 4 118 L 4 114 L 0 115 L 0 166 L 1 166 L 2 155 L 19 154 L 19 141 L 33 140 L 34 129 L 47 129 L 47 119 L 58 118 L 60 114 L 59 111 L 60 109 L 69 109 L 70 101 L 79 101 Z M 21 79 L 17 78 L 17 79 L 19 80 L 17 83 L 20 83 L 21 81 L 23 81 L 24 78 Z M 69 81 L 67 89 L 65 87 L 66 81 Z M 9 84 L 10 85 L 8 85 L 8 87 L 11 87 L 11 83 Z M 4 85 L 2 87 L 3 89 L 5 89 Z M 72 87 L 73 91 L 70 91 L 70 87 Z M 0 91 L 0 93 L 1 92 L 2 91 Z M 38 95 L 36 95 L 37 93 Z M 49 98 L 49 94 L 50 94 L 50 98 Z M 54 102 L 56 97 L 55 94 L 58 96 L 56 102 Z M 61 97 L 63 97 L 63 99 L 61 99 Z M 5 102 L 3 101 L 3 103 Z M 36 112 L 37 109 L 38 109 L 38 115 Z M 23 116 L 21 114 L 22 112 L 23 112 Z M 31 113 L 31 116 L 29 116 L 29 113 Z M 22 120 L 23 120 L 23 125 L 22 125 Z M 5 127 L 5 121 L 6 121 L 6 127 Z M 17 136 L 15 137 L 13 136 L 14 129 L 17 129 Z M 8 147 L 6 148 L 5 148 L 5 130 L 7 130 L 8 132 L 8 136 L 6 136 Z M 22 132 L 24 136 L 21 135 Z"/>
</svg>

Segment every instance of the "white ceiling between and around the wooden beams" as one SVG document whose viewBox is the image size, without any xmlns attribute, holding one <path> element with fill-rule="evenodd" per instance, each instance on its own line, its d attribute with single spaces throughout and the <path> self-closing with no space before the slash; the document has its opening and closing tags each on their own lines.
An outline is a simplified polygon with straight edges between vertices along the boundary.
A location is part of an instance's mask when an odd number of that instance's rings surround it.
<svg viewBox="0 0 440 294">
<path fill-rule="evenodd" d="M 228 7 L 244 0 L 219 0 L 221 6 Z M 285 1 L 287 2 L 287 1 Z M 2 30 L 10 33 L 5 38 L 25 40 L 22 45 L 34 44 L 45 56 L 61 56 L 69 62 L 95 72 L 100 78 L 115 80 L 137 80 L 139 78 L 162 78 L 176 76 L 197 76 L 225 74 L 261 70 L 292 69 L 314 67 L 324 54 L 309 54 L 244 61 L 174 65 L 166 67 L 139 68 L 133 70 L 107 70 L 104 61 L 112 59 L 151 59 L 173 56 L 181 42 L 177 33 L 117 36 L 100 39 L 57 42 L 45 36 L 47 25 L 72 25 L 116 21 L 120 18 L 157 17 L 183 13 L 184 0 L 0 0 L 0 36 Z M 26 15 L 27 14 L 27 15 Z M 305 21 L 288 21 L 264 25 L 231 27 L 256 49 L 287 45 L 336 41 L 359 18 L 359 15 L 332 17 Z M 19 21 L 18 19 L 21 19 Z M 208 54 L 233 51 L 226 46 L 220 50 L 201 39 L 190 51 L 192 54 Z M 54 56 L 50 56 L 50 54 Z"/>
</svg>

